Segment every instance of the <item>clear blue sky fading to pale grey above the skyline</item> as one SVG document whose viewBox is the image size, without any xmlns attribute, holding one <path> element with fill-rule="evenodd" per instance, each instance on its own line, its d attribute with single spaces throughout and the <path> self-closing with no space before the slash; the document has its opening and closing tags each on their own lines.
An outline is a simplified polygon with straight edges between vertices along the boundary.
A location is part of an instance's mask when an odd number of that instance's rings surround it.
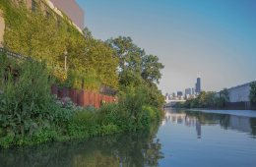
<svg viewBox="0 0 256 167">
<path fill-rule="evenodd" d="M 164 64 L 163 93 L 256 81 L 256 0 L 77 0 L 96 38 L 131 36 Z"/>
</svg>

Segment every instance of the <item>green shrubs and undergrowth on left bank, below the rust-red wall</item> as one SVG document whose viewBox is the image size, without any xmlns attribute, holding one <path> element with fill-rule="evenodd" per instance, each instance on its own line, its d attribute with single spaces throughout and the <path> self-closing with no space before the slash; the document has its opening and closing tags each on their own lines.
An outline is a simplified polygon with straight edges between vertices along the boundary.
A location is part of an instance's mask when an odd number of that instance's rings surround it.
<svg viewBox="0 0 256 167">
<path fill-rule="evenodd" d="M 119 102 L 100 109 L 62 105 L 50 95 L 46 65 L 33 60 L 15 64 L 1 55 L 0 145 L 23 145 L 49 140 L 78 139 L 137 132 L 159 121 L 161 112 L 151 105 L 144 87 L 126 87 Z"/>
</svg>

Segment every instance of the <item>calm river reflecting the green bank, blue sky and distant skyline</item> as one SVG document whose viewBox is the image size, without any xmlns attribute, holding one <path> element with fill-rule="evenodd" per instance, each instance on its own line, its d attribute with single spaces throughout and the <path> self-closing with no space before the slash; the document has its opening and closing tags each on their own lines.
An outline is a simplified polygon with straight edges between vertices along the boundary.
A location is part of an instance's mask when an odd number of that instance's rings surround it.
<svg viewBox="0 0 256 167">
<path fill-rule="evenodd" d="M 149 131 L 0 150 L 0 166 L 254 167 L 255 113 L 166 109 Z"/>
</svg>

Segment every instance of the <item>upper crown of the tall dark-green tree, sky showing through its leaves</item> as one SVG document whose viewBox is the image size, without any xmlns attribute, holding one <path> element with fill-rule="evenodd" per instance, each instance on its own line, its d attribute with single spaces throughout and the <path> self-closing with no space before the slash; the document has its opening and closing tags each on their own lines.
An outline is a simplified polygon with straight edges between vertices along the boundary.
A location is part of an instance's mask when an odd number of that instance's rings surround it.
<svg viewBox="0 0 256 167">
<path fill-rule="evenodd" d="M 158 56 L 147 55 L 145 50 L 133 43 L 131 37 L 119 36 L 106 41 L 119 58 L 121 84 L 159 83 L 163 65 Z"/>
</svg>

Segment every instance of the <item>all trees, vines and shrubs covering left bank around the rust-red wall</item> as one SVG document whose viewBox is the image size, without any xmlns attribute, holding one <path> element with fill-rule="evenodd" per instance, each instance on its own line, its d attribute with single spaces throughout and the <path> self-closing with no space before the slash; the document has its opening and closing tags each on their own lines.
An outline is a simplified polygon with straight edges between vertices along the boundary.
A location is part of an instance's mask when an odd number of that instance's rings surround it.
<svg viewBox="0 0 256 167">
<path fill-rule="evenodd" d="M 146 55 L 130 37 L 96 40 L 88 28 L 82 35 L 53 12 L 25 5 L 0 1 L 5 47 L 32 57 L 0 55 L 0 146 L 137 132 L 160 120 L 163 66 L 157 56 Z M 53 82 L 93 91 L 108 86 L 118 90 L 118 103 L 100 109 L 62 105 L 50 94 Z"/>
</svg>

